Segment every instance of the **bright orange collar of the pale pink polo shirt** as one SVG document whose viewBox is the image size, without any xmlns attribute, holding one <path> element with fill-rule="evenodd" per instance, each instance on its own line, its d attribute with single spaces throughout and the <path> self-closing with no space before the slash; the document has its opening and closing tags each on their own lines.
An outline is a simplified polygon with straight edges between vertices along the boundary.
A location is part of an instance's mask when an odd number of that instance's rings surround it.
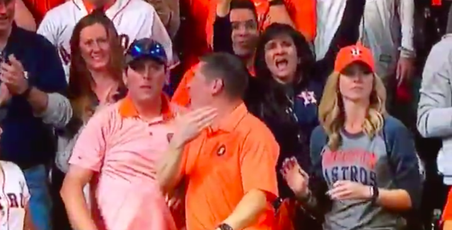
<svg viewBox="0 0 452 230">
<path fill-rule="evenodd" d="M 169 98 L 166 95 L 162 94 L 161 100 L 162 100 L 161 114 L 163 116 L 163 121 L 172 119 L 174 117 L 174 114 L 170 106 Z M 129 95 L 127 95 L 127 97 L 124 97 L 124 99 L 120 101 L 119 112 L 122 118 L 139 118 L 137 108 L 135 107 L 134 102 L 132 102 L 132 99 L 130 98 Z"/>
</svg>

